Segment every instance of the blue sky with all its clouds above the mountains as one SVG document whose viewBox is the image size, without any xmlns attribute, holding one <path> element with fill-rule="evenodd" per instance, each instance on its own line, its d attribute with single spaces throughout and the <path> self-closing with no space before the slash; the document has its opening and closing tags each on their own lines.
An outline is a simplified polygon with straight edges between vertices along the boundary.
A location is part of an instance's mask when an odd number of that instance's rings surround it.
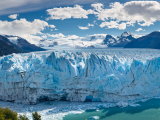
<svg viewBox="0 0 160 120">
<path fill-rule="evenodd" d="M 146 35 L 160 30 L 160 1 L 0 0 L 0 34 L 41 39 Z"/>
</svg>

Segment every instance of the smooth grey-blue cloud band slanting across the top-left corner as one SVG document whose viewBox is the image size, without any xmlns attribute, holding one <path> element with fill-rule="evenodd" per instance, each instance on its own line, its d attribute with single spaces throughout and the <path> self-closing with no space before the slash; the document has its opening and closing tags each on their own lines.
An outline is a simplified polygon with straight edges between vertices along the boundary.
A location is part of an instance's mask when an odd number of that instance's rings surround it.
<svg viewBox="0 0 160 120">
<path fill-rule="evenodd" d="M 1 0 L 0 15 L 29 12 L 56 6 L 91 4 L 95 1 L 97 0 Z"/>
</svg>

